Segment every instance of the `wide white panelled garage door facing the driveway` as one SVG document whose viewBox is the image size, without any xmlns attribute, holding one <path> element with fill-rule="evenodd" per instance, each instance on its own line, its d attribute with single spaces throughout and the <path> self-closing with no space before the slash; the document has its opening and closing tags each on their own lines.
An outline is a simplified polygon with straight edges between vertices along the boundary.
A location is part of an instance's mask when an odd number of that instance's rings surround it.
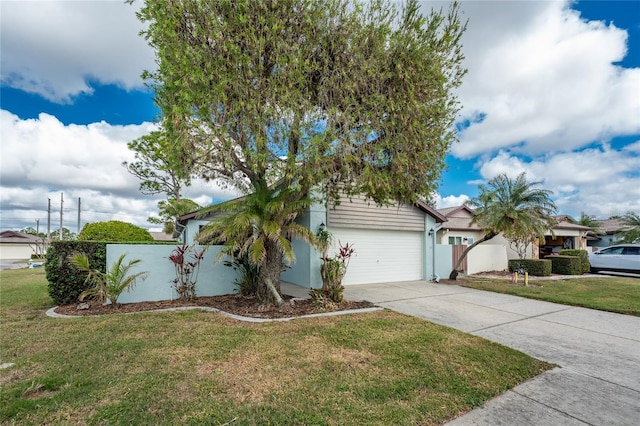
<svg viewBox="0 0 640 426">
<path fill-rule="evenodd" d="M 344 285 L 422 279 L 423 232 L 331 228 L 335 239 L 353 243 Z M 329 252 L 332 253 L 331 251 Z"/>
</svg>

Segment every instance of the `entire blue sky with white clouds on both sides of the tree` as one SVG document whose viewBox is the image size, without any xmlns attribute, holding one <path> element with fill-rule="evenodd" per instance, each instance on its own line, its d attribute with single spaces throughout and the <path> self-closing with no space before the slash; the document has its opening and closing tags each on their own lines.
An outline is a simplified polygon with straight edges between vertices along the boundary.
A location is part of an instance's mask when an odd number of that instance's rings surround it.
<svg viewBox="0 0 640 426">
<path fill-rule="evenodd" d="M 424 2 L 423 7 L 446 2 Z M 116 1 L 0 2 L 0 228 L 125 220 L 149 228 L 160 197 L 120 166 L 158 111 L 140 74 L 154 67 L 136 6 Z M 463 1 L 469 69 L 460 142 L 441 207 L 498 173 L 527 172 L 562 213 L 640 211 L 640 2 Z M 462 123 L 465 123 L 464 125 Z M 196 182 L 200 204 L 233 196 Z"/>
</svg>

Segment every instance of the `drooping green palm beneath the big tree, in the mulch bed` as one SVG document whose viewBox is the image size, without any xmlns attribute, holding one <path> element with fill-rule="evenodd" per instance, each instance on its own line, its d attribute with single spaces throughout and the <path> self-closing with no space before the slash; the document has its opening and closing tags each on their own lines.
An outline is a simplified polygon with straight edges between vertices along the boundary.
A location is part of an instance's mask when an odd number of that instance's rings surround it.
<svg viewBox="0 0 640 426">
<path fill-rule="evenodd" d="M 291 263 L 295 253 L 291 238 L 315 243 L 313 233 L 295 222 L 311 203 L 290 188 L 258 184 L 239 200 L 204 209 L 201 215 L 220 213 L 198 234 L 200 243 L 223 243 L 221 254 L 234 258 L 248 255 L 259 266 L 258 300 L 281 306 L 280 272 L 283 260 Z"/>
</svg>

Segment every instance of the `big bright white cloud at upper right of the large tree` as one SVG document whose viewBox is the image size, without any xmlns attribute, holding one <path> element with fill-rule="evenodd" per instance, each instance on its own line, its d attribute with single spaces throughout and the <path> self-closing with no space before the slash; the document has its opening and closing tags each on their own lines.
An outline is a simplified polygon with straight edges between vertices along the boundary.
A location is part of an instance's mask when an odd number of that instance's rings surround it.
<svg viewBox="0 0 640 426">
<path fill-rule="evenodd" d="M 469 73 L 459 98 L 472 124 L 454 155 L 571 151 L 640 133 L 640 69 L 613 64 L 626 53 L 626 31 L 587 22 L 567 2 L 465 1 L 462 9 Z"/>
</svg>

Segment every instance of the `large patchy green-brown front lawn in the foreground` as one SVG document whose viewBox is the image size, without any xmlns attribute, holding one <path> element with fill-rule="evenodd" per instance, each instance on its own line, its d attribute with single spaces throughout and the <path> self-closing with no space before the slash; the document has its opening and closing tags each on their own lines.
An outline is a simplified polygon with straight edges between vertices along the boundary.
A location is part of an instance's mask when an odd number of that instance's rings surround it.
<svg viewBox="0 0 640 426">
<path fill-rule="evenodd" d="M 1 424 L 441 424 L 551 368 L 391 311 L 249 324 L 50 306 L 42 269 L 0 272 Z"/>
</svg>

